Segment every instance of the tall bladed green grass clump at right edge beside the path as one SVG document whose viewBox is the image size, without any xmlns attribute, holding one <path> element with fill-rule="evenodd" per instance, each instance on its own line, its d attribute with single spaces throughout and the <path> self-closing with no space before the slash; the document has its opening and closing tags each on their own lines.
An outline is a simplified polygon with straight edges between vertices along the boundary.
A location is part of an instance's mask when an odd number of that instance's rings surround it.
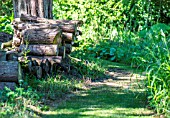
<svg viewBox="0 0 170 118">
<path fill-rule="evenodd" d="M 156 24 L 144 33 L 144 54 L 134 60 L 147 68 L 150 106 L 157 113 L 170 113 L 170 26 Z M 142 44 L 140 44 L 142 45 Z"/>
</svg>

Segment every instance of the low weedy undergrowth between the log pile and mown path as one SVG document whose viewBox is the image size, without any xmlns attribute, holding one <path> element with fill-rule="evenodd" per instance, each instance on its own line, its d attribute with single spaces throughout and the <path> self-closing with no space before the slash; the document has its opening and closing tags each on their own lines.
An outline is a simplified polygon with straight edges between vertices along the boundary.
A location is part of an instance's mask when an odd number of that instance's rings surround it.
<svg viewBox="0 0 170 118">
<path fill-rule="evenodd" d="M 81 83 L 74 79 L 53 76 L 47 80 L 38 80 L 34 76 L 26 75 L 15 90 L 5 88 L 0 91 L 0 116 L 36 117 L 38 114 L 35 109 L 48 111 L 50 101 L 57 102 L 81 86 Z"/>
</svg>

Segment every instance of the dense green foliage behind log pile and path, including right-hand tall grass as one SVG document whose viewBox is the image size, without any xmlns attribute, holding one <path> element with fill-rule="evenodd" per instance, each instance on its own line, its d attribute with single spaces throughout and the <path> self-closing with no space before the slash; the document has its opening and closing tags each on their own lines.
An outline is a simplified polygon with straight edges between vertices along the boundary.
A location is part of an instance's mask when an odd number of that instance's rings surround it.
<svg viewBox="0 0 170 118">
<path fill-rule="evenodd" d="M 11 1 L 1 3 L 0 31 L 11 32 Z M 88 54 L 146 70 L 150 106 L 157 113 L 169 113 L 169 4 L 168 0 L 54 0 L 53 12 L 55 19 L 84 21 L 75 57 Z"/>
</svg>

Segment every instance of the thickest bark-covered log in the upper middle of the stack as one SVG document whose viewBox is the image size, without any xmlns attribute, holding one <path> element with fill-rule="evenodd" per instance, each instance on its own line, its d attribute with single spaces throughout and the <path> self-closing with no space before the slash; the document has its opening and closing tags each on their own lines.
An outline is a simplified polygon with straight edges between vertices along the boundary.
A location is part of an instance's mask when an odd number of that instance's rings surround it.
<svg viewBox="0 0 170 118">
<path fill-rule="evenodd" d="M 24 42 L 29 44 L 60 44 L 61 30 L 56 29 L 27 29 L 23 33 Z"/>
</svg>

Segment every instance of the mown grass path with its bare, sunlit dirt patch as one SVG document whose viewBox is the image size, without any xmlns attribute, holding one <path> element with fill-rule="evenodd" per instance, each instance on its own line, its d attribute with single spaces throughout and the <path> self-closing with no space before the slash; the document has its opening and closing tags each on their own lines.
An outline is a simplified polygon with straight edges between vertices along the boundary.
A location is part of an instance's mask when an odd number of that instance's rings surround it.
<svg viewBox="0 0 170 118">
<path fill-rule="evenodd" d="M 73 93 L 42 117 L 152 118 L 153 111 L 146 108 L 143 76 L 112 67 L 106 73 L 106 78 L 87 83 L 84 90 Z"/>
</svg>

